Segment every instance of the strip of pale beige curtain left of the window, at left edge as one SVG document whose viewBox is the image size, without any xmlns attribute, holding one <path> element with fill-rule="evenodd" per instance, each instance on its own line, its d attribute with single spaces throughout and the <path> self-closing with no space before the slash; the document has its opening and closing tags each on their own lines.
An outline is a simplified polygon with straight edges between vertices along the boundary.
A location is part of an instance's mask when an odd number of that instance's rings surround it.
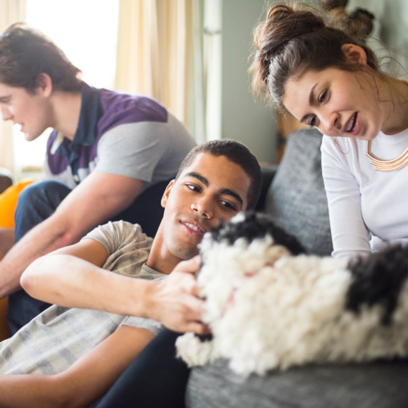
<svg viewBox="0 0 408 408">
<path fill-rule="evenodd" d="M 0 0 L 0 31 L 14 22 L 24 21 L 25 9 L 25 0 Z M 15 172 L 11 126 L 10 121 L 0 123 L 0 166 Z"/>
</svg>

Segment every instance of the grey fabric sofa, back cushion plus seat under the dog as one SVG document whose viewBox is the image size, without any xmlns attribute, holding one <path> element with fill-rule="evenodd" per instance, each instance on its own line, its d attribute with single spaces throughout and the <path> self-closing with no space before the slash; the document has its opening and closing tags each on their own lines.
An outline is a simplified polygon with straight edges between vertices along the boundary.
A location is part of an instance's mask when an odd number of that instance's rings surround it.
<svg viewBox="0 0 408 408">
<path fill-rule="evenodd" d="M 320 170 L 321 135 L 293 133 L 276 172 L 265 171 L 258 209 L 298 237 L 310 253 L 329 255 L 330 228 Z M 273 174 L 274 173 L 274 174 Z M 271 181 L 269 185 L 269 181 Z M 250 345 L 248 345 L 250 346 Z M 309 365 L 244 378 L 218 360 L 191 371 L 189 408 L 408 407 L 408 361 Z"/>
</svg>

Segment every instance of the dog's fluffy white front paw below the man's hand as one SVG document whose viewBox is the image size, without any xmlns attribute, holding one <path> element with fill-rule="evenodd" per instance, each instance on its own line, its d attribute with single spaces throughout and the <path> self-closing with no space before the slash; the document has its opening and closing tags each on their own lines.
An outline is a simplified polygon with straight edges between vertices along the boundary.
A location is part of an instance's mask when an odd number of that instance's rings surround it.
<svg viewBox="0 0 408 408">
<path fill-rule="evenodd" d="M 183 359 L 189 367 L 202 366 L 211 361 L 213 341 L 201 341 L 194 333 L 186 333 L 175 342 L 177 357 Z"/>
</svg>

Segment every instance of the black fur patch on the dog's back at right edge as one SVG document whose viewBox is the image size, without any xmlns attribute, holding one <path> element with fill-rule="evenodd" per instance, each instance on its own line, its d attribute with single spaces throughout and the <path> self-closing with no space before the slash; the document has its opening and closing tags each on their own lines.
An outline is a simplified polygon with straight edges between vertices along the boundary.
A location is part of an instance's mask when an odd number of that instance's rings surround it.
<svg viewBox="0 0 408 408">
<path fill-rule="evenodd" d="M 393 245 L 349 263 L 352 283 L 346 308 L 359 313 L 364 304 L 384 307 L 382 324 L 389 324 L 399 293 L 408 276 L 408 247 Z"/>
</svg>

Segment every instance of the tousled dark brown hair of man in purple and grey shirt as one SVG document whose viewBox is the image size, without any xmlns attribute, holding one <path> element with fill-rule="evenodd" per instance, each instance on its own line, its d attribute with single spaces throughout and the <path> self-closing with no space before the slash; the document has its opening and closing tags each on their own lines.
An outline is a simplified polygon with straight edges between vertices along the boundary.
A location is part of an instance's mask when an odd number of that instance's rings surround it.
<svg viewBox="0 0 408 408">
<path fill-rule="evenodd" d="M 3 84 L 33 93 L 40 85 L 40 74 L 47 73 L 54 89 L 75 92 L 81 90 L 80 72 L 53 41 L 22 23 L 11 25 L 0 35 Z"/>
</svg>

